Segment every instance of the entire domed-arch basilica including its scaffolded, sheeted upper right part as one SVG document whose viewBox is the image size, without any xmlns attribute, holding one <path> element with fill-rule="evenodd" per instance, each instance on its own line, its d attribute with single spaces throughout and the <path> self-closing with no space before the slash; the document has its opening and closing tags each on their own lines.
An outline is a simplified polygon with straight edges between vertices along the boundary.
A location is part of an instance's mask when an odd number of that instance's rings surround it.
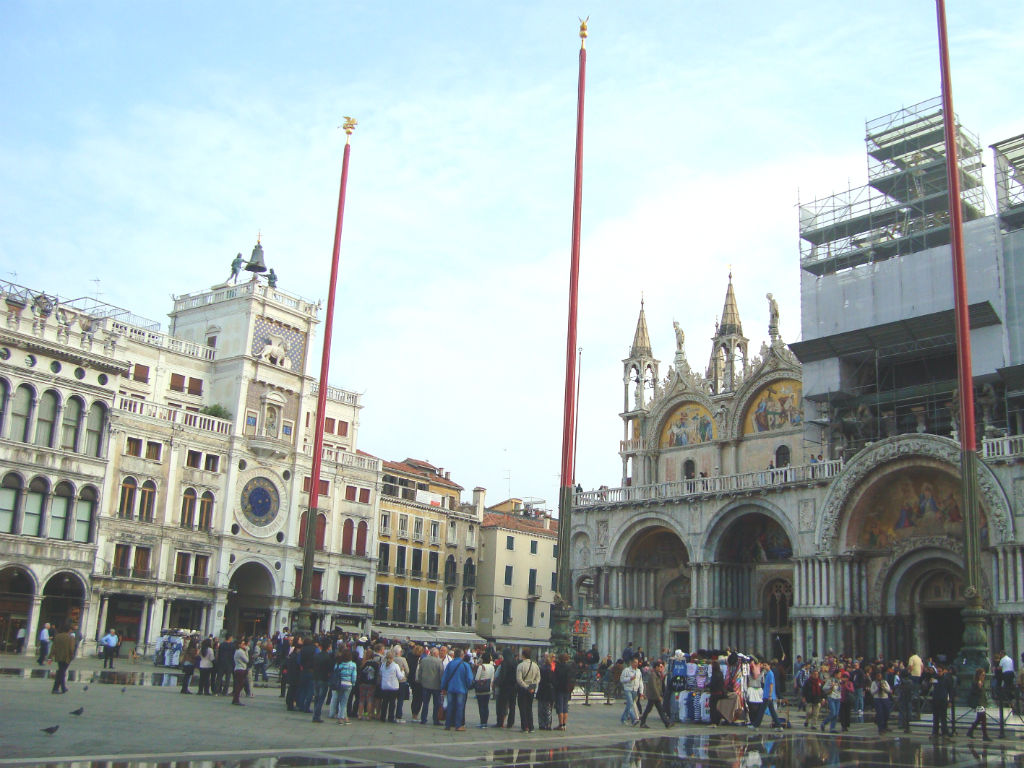
<svg viewBox="0 0 1024 768">
<path fill-rule="evenodd" d="M 992 650 L 1024 650 L 1024 135 L 956 124 Z M 662 376 L 641 310 L 623 477 L 578 493 L 579 609 L 602 652 L 743 647 L 951 657 L 964 605 L 940 99 L 866 124 L 867 184 L 800 206 L 802 340 L 748 354 L 730 284 L 706 375 Z"/>
</svg>

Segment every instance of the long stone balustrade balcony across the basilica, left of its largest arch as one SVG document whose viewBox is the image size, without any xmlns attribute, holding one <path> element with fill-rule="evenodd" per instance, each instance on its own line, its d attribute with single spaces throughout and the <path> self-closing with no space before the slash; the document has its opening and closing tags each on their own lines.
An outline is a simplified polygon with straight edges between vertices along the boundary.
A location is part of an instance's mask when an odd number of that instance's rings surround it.
<svg viewBox="0 0 1024 768">
<path fill-rule="evenodd" d="M 573 494 L 572 506 L 578 509 L 603 509 L 620 505 L 659 504 L 693 497 L 818 484 L 827 482 L 842 470 L 842 461 L 830 461 L 779 467 L 778 469 L 764 469 L 736 475 L 695 477 L 688 480 L 658 482 L 653 485 L 598 488 L 597 490 Z"/>
</svg>

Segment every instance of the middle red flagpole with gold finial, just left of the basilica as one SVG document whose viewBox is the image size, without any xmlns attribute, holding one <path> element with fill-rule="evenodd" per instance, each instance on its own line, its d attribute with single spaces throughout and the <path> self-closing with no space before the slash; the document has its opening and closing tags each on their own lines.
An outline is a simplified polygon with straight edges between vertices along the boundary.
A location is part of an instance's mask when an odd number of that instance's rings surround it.
<svg viewBox="0 0 1024 768">
<path fill-rule="evenodd" d="M 587 22 L 580 23 L 580 81 L 577 89 L 577 150 L 575 174 L 572 187 L 572 249 L 569 259 L 569 316 L 565 338 L 565 401 L 562 410 L 562 468 L 561 487 L 558 494 L 558 593 L 552 607 L 552 644 L 560 651 L 568 651 L 569 610 L 571 609 L 572 584 L 569 558 L 571 526 L 573 464 L 575 456 L 575 394 L 577 394 L 577 313 L 580 287 L 580 222 L 583 216 L 583 115 L 587 84 Z"/>
</svg>

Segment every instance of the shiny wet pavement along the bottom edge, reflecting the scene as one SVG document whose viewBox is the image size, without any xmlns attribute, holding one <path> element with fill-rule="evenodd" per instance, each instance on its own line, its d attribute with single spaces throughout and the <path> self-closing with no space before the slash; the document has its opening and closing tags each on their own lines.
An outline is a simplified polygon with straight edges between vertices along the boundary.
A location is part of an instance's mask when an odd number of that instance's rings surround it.
<svg viewBox="0 0 1024 768">
<path fill-rule="evenodd" d="M 1024 743 L 1024 742 L 1022 742 Z M 922 738 L 827 736 L 816 733 L 748 734 L 694 733 L 639 738 L 612 744 L 579 741 L 557 745 L 485 749 L 482 744 L 424 744 L 422 759 L 410 744 L 356 750 L 289 751 L 266 756 L 222 755 L 204 759 L 53 761 L 48 768 L 424 768 L 427 766 L 487 766 L 488 768 L 923 768 L 924 766 L 1000 766 L 1024 768 L 1024 751 L 1017 743 L 969 740 L 932 742 Z M 438 755 L 437 753 L 443 753 Z"/>
</svg>

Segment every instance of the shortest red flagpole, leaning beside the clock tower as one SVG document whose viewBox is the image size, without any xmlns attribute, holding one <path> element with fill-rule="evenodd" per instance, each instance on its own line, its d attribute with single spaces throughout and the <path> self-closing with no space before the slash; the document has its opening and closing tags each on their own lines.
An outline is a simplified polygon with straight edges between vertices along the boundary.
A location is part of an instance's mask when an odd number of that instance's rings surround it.
<svg viewBox="0 0 1024 768">
<path fill-rule="evenodd" d="M 334 295 L 338 288 L 338 261 L 341 253 L 341 227 L 345 218 L 345 187 L 348 185 L 349 140 L 355 121 L 345 118 L 345 154 L 341 161 L 341 187 L 338 190 L 338 217 L 334 224 L 334 253 L 331 256 L 331 285 L 327 294 L 327 314 L 324 317 L 324 352 L 321 355 L 319 389 L 316 392 L 316 422 L 313 428 L 313 466 L 309 478 L 309 507 L 306 511 L 305 542 L 302 549 L 302 592 L 299 600 L 298 626 L 311 631 L 313 590 L 313 552 L 316 547 L 316 504 L 319 502 L 319 475 L 324 460 L 324 420 L 327 416 L 327 375 L 331 367 L 331 337 L 334 332 Z"/>
</svg>

